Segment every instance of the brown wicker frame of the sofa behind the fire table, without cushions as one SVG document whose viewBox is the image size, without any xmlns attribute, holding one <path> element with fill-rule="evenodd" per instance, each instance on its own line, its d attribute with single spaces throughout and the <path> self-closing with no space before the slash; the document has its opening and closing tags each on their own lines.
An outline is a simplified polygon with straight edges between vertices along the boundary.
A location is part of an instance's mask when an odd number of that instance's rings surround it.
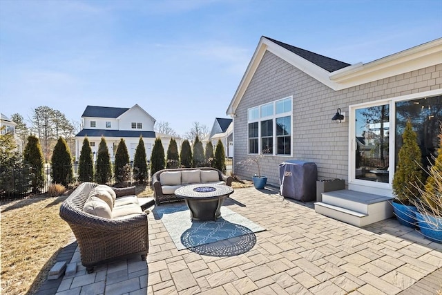
<svg viewBox="0 0 442 295">
<path fill-rule="evenodd" d="M 197 168 L 175 168 L 175 169 L 163 169 L 157 171 L 152 175 L 152 187 L 153 187 L 153 198 L 155 199 L 155 204 L 159 206 L 162 202 L 175 202 L 183 201 L 183 198 L 175 196 L 174 193 L 164 193 L 162 190 L 162 184 L 160 182 L 160 175 L 166 171 L 217 171 L 218 180 L 225 182 L 226 185 L 231 187 L 233 178 L 231 176 L 224 175 L 220 170 L 211 167 L 197 167 Z"/>
</svg>

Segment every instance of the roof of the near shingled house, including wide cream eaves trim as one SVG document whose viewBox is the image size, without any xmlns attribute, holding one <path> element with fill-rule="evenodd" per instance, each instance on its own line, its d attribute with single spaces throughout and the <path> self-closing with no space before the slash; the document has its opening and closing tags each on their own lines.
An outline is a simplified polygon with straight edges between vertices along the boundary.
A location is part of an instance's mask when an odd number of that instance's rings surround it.
<svg viewBox="0 0 442 295">
<path fill-rule="evenodd" d="M 400 53 L 376 59 L 367 64 L 346 64 L 336 59 L 324 57 L 308 50 L 262 36 L 246 72 L 227 108 L 227 115 L 236 116 L 240 104 L 253 75 L 267 51 L 298 68 L 318 82 L 334 91 L 374 82 L 387 77 L 409 73 L 441 63 L 442 38 L 403 50 Z"/>
</svg>

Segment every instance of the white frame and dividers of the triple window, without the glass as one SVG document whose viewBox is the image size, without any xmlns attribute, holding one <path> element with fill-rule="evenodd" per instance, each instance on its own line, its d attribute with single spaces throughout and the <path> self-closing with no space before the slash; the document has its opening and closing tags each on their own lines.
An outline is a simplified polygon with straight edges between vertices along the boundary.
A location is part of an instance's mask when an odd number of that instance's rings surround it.
<svg viewBox="0 0 442 295">
<path fill-rule="evenodd" d="M 291 110 L 287 111 L 285 113 L 278 113 L 276 114 L 276 102 L 280 102 L 281 100 L 284 99 L 291 99 Z M 266 117 L 261 117 L 261 106 L 265 106 L 267 104 L 273 104 L 273 115 L 269 115 Z M 258 118 L 256 120 L 249 120 L 249 110 L 251 110 L 252 108 L 258 108 Z M 291 144 L 290 144 L 290 154 L 289 155 L 280 155 L 277 154 L 278 151 L 278 146 L 277 146 L 277 142 L 278 142 L 278 137 L 276 136 L 276 119 L 280 118 L 280 117 L 290 117 L 290 140 L 291 140 Z M 273 102 L 266 102 L 265 104 L 260 104 L 258 106 L 253 106 L 251 108 L 247 108 L 247 155 L 259 155 L 260 153 L 262 153 L 262 135 L 261 135 L 261 122 L 262 121 L 267 121 L 267 120 L 272 120 L 273 122 L 273 135 L 272 135 L 272 139 L 273 139 L 273 152 L 272 153 L 265 153 L 263 155 L 265 156 L 277 156 L 277 157 L 292 157 L 293 156 L 293 95 L 287 96 L 287 97 L 283 97 L 281 99 L 276 99 L 273 100 Z M 250 151 L 250 146 L 249 146 L 249 124 L 251 123 L 255 123 L 258 122 L 258 153 L 249 153 Z"/>
</svg>

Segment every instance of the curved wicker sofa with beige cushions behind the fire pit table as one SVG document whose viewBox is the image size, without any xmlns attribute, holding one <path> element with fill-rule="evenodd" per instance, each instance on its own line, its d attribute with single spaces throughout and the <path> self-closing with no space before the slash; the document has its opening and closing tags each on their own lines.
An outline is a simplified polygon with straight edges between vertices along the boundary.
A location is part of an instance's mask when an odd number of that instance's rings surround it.
<svg viewBox="0 0 442 295">
<path fill-rule="evenodd" d="M 163 169 L 152 175 L 153 198 L 158 206 L 162 202 L 184 200 L 175 196 L 179 187 L 198 183 L 226 184 L 231 187 L 233 178 L 211 167 Z"/>
</svg>

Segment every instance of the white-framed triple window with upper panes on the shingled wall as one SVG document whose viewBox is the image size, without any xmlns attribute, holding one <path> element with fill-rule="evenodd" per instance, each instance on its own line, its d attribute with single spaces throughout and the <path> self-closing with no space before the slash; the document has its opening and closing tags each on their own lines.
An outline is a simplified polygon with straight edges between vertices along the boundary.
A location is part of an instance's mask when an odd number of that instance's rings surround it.
<svg viewBox="0 0 442 295">
<path fill-rule="evenodd" d="M 290 96 L 247 110 L 249 154 L 291 155 L 292 103 Z"/>
</svg>

